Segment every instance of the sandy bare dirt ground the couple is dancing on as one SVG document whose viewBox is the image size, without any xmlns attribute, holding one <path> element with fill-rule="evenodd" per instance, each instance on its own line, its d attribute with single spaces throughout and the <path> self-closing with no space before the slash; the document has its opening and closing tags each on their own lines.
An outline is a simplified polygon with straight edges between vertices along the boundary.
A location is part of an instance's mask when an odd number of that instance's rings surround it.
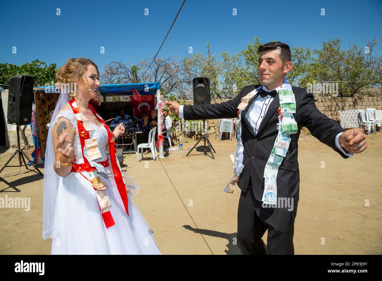
<svg viewBox="0 0 382 281">
<path fill-rule="evenodd" d="M 155 162 L 149 154 L 139 163 L 135 154 L 126 154 L 125 169 L 141 187 L 133 201 L 162 254 L 241 254 L 235 243 L 240 189 L 223 192 L 233 173 L 229 155 L 236 140 L 211 140 L 215 159 L 199 149 L 186 157 L 195 144 L 188 141 Z M 382 133 L 368 136 L 367 143 L 363 153 L 343 159 L 316 138 L 301 135 L 296 254 L 382 253 Z M 0 154 L 1 167 L 13 151 Z M 16 173 L 6 174 L 12 171 Z M 21 192 L 7 189 L 0 197 L 30 197 L 31 208 L 0 208 L 0 254 L 49 254 L 52 240 L 41 238 L 43 179 L 18 171 L 5 168 L 0 176 Z M 4 188 L 0 182 L 0 190 Z"/>
</svg>

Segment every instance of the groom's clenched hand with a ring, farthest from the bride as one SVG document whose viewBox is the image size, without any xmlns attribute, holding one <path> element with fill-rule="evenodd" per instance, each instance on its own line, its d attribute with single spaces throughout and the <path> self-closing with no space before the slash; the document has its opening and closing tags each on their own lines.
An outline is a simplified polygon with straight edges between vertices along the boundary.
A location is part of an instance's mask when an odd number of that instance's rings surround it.
<svg viewBox="0 0 382 281">
<path fill-rule="evenodd" d="M 353 153 L 361 153 L 367 148 L 366 135 L 361 128 L 346 130 L 338 141 L 343 149 Z"/>
</svg>

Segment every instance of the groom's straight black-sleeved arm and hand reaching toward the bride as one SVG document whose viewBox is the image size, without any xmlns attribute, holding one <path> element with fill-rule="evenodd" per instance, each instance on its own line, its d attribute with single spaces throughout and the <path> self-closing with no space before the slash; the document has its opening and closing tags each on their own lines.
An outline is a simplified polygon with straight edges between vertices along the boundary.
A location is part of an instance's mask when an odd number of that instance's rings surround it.
<svg viewBox="0 0 382 281">
<path fill-rule="evenodd" d="M 247 88 L 249 87 L 249 88 Z M 236 97 L 230 101 L 220 104 L 204 104 L 199 106 L 180 106 L 177 102 L 166 101 L 165 104 L 170 107 L 170 111 L 179 114 L 180 118 L 185 120 L 203 120 L 203 119 L 219 119 L 237 117 L 237 107 L 241 102 L 244 93 L 249 93 L 254 86 L 246 86 Z"/>
</svg>

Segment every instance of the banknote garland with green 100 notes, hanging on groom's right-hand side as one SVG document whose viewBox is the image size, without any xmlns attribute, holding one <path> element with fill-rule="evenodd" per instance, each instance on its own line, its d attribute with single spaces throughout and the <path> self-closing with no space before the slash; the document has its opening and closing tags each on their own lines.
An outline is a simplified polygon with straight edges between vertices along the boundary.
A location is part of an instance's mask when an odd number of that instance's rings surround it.
<svg viewBox="0 0 382 281">
<path fill-rule="evenodd" d="M 277 203 L 277 172 L 281 162 L 286 156 L 291 141 L 290 135 L 298 131 L 293 113 L 296 113 L 296 100 L 293 91 L 280 89 L 278 91 L 280 107 L 278 109 L 278 134 L 264 170 L 264 204 Z"/>
</svg>

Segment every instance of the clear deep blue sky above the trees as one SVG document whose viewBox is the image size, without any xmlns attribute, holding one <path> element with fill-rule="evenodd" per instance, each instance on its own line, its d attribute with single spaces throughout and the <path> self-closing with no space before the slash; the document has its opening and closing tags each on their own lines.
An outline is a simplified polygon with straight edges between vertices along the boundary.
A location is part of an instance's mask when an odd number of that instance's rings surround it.
<svg viewBox="0 0 382 281">
<path fill-rule="evenodd" d="M 101 73 L 111 61 L 135 63 L 157 52 L 182 2 L 0 0 L 0 63 L 39 59 L 60 67 L 68 58 L 89 57 Z M 186 0 L 158 57 L 190 56 L 189 46 L 194 54 L 206 54 L 207 41 L 212 53 L 239 52 L 255 36 L 263 43 L 275 39 L 312 48 L 340 37 L 344 48 L 351 43 L 360 47 L 375 36 L 382 39 L 381 15 L 381 0 Z M 12 54 L 13 46 L 17 54 Z M 100 54 L 101 46 L 105 54 Z M 374 51 L 382 54 L 382 43 Z"/>
</svg>

